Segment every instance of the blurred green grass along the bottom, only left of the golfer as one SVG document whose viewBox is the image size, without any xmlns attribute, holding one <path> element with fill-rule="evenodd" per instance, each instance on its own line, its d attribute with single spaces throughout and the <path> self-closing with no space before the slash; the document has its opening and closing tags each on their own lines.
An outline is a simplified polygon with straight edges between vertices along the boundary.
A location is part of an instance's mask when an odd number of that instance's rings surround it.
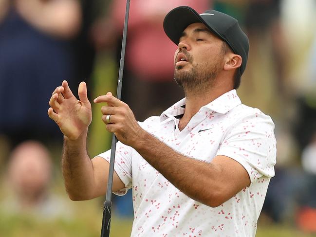
<svg viewBox="0 0 316 237">
<path fill-rule="evenodd" d="M 71 202 L 71 201 L 69 201 Z M 0 237 L 98 237 L 102 222 L 102 201 L 72 202 L 71 216 L 55 219 L 29 214 L 0 212 Z M 130 236 L 131 219 L 117 219 L 113 213 L 111 237 Z M 117 231 L 119 230 L 119 231 Z"/>
</svg>

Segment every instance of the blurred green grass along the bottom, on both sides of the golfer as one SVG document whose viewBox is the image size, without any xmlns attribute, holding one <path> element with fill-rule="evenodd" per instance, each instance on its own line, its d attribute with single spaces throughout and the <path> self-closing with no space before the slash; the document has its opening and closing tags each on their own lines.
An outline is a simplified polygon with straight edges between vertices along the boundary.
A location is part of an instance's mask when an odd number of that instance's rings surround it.
<svg viewBox="0 0 316 237">
<path fill-rule="evenodd" d="M 99 237 L 102 221 L 102 203 L 80 201 L 74 205 L 71 219 L 41 220 L 29 216 L 4 216 L 0 213 L 0 237 Z M 111 237 L 129 237 L 132 219 L 118 219 L 113 213 Z M 293 226 L 260 225 L 257 237 L 312 237 Z M 315 236 L 315 235 L 314 235 Z"/>
</svg>

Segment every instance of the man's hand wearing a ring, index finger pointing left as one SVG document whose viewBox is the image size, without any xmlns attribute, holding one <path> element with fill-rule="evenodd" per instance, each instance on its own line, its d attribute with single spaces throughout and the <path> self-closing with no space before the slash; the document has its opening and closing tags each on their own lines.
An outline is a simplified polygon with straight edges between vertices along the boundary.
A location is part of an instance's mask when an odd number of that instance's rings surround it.
<svg viewBox="0 0 316 237">
<path fill-rule="evenodd" d="M 98 96 L 94 103 L 106 102 L 108 106 L 102 106 L 102 121 L 106 124 L 106 129 L 113 132 L 117 139 L 128 146 L 134 146 L 142 133 L 146 133 L 135 120 L 130 107 L 115 98 L 111 92 Z M 110 123 L 106 120 L 107 115 L 111 115 Z"/>
</svg>

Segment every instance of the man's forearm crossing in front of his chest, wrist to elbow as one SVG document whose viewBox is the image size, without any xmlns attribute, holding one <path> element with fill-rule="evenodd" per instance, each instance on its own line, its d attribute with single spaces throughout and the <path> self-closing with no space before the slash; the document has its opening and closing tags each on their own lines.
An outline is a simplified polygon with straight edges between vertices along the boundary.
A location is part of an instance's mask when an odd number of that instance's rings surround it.
<svg viewBox="0 0 316 237">
<path fill-rule="evenodd" d="M 209 206 L 221 204 L 218 199 L 220 185 L 215 182 L 221 170 L 215 165 L 181 155 L 150 134 L 146 134 L 134 148 L 190 198 Z"/>
</svg>

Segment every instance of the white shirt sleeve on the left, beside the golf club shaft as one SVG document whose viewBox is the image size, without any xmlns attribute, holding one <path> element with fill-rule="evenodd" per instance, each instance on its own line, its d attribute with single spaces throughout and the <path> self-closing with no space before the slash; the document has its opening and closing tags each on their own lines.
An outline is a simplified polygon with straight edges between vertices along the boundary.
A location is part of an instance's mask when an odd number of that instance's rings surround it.
<svg viewBox="0 0 316 237">
<path fill-rule="evenodd" d="M 133 148 L 131 148 L 130 146 L 126 146 L 121 142 L 118 142 L 116 144 L 114 170 L 117 173 L 118 177 L 121 179 L 121 181 L 125 184 L 125 188 L 117 192 L 113 192 L 118 196 L 125 195 L 132 186 L 132 152 Z M 111 149 L 97 156 L 104 158 L 107 162 L 110 163 Z"/>
</svg>

